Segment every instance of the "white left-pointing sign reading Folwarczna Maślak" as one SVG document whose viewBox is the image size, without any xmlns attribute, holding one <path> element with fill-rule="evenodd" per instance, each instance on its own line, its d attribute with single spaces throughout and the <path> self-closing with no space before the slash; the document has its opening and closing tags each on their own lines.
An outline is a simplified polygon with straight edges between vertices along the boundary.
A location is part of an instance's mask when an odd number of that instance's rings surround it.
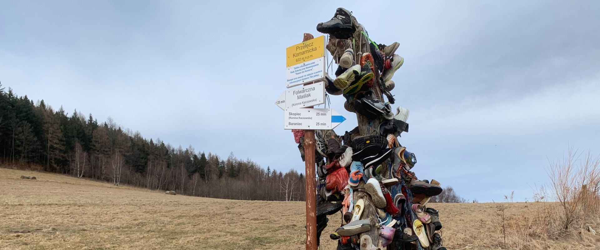
<svg viewBox="0 0 600 250">
<path fill-rule="evenodd" d="M 283 110 L 317 106 L 323 103 L 325 103 L 323 82 L 287 89 L 275 101 L 275 104 Z"/>
</svg>

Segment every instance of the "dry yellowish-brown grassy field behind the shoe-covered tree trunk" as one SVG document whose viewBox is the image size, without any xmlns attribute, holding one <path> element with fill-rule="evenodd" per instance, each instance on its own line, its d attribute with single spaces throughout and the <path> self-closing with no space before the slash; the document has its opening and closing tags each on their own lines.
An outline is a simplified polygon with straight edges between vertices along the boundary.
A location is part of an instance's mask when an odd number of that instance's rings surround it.
<svg viewBox="0 0 600 250">
<path fill-rule="evenodd" d="M 19 179 L 21 175 L 37 180 Z M 304 249 L 304 203 L 166 195 L 59 174 L 0 168 L 0 249 Z M 541 203 L 431 204 L 448 249 L 502 249 L 505 218 Z M 527 224 L 527 219 L 523 223 Z M 321 249 L 335 249 L 329 218 Z M 514 221 L 512 221 L 514 222 Z M 525 232 L 524 234 L 526 234 Z M 509 244 L 520 237 L 509 231 Z M 516 244 L 516 243 L 515 243 Z M 532 244 L 529 245 L 529 248 Z M 540 249 L 600 249 L 598 236 L 556 237 Z M 511 246 L 517 248 L 517 246 Z M 533 248 L 532 248 L 533 249 Z"/>
</svg>

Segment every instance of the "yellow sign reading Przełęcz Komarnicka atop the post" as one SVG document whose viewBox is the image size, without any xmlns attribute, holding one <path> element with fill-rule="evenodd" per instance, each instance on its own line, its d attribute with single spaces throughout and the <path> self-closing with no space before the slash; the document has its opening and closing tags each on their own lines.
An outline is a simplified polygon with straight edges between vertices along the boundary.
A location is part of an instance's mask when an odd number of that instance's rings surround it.
<svg viewBox="0 0 600 250">
<path fill-rule="evenodd" d="M 287 67 L 325 56 L 325 36 L 287 47 Z"/>
</svg>

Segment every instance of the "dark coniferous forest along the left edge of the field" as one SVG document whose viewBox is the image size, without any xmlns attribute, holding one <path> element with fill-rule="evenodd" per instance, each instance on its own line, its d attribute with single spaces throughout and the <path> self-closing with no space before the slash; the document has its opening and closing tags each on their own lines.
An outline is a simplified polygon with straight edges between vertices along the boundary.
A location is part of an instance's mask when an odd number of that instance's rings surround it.
<svg viewBox="0 0 600 250">
<path fill-rule="evenodd" d="M 0 83 L 0 167 L 202 197 L 304 200 L 303 174 L 264 169 L 233 153 L 222 158 L 208 150 L 147 139 L 111 118 L 98 122 L 92 114 L 68 113 L 62 106 L 55 110 Z"/>
</svg>

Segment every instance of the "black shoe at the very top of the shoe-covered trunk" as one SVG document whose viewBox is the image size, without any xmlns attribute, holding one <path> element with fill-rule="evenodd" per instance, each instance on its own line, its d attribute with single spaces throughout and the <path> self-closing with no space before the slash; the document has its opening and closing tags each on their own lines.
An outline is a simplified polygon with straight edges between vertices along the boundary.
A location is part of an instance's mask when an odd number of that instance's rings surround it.
<svg viewBox="0 0 600 250">
<path fill-rule="evenodd" d="M 330 34 L 338 39 L 348 39 L 356 31 L 351 15 L 352 13 L 345 8 L 337 8 L 331 20 L 317 25 L 317 31 Z"/>
</svg>

